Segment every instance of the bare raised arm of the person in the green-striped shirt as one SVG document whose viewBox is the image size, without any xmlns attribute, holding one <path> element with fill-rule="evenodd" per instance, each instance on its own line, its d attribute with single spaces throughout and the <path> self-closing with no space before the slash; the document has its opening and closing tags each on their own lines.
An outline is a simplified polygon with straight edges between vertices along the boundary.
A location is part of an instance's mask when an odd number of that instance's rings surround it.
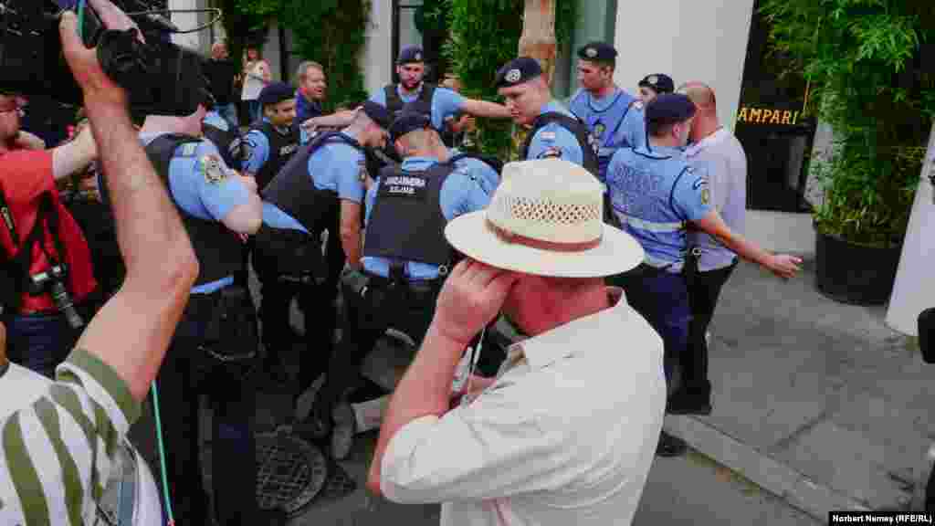
<svg viewBox="0 0 935 526">
<path fill-rule="evenodd" d="M 126 264 L 120 291 L 98 312 L 78 347 L 107 363 L 137 401 L 146 397 L 198 273 L 191 241 L 126 111 L 127 95 L 81 43 L 75 16 L 61 24 L 65 59 L 84 93 L 100 148 L 117 241 Z"/>
</svg>

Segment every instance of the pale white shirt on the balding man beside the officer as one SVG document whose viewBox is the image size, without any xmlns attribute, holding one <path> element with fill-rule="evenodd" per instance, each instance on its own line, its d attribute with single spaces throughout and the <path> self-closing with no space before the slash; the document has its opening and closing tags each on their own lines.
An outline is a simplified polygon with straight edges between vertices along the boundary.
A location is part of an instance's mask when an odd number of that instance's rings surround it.
<svg viewBox="0 0 935 526">
<path fill-rule="evenodd" d="M 711 189 L 713 208 L 731 230 L 743 233 L 747 210 L 747 155 L 741 141 L 725 128 L 692 144 L 685 150 L 688 162 L 700 173 L 706 173 Z M 730 249 L 698 230 L 688 232 L 688 244 L 698 244 L 703 253 L 698 270 L 722 269 L 737 257 Z"/>
</svg>

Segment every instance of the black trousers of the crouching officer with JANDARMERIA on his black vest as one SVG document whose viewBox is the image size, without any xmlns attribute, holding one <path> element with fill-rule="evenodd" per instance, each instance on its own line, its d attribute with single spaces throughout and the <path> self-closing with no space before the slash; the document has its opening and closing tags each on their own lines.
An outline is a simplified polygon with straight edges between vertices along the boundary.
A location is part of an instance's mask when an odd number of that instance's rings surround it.
<svg viewBox="0 0 935 526">
<path fill-rule="evenodd" d="M 354 387 L 360 377 L 364 358 L 373 350 L 386 329 L 408 335 L 417 345 L 422 342 L 435 314 L 439 287 L 435 283 L 391 283 L 371 276 L 363 296 L 344 287 L 344 325 L 335 348 L 324 386 L 315 397 L 319 416 L 330 409 Z"/>
</svg>

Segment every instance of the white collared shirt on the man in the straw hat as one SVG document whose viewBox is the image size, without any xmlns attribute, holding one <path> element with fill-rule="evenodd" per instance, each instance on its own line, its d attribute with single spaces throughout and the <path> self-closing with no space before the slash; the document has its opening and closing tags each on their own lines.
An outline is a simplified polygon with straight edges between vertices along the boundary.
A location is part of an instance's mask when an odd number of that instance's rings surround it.
<svg viewBox="0 0 935 526">
<path fill-rule="evenodd" d="M 443 503 L 441 524 L 630 524 L 666 406 L 662 339 L 611 308 L 511 346 L 496 382 L 393 436 L 381 489 Z"/>
</svg>

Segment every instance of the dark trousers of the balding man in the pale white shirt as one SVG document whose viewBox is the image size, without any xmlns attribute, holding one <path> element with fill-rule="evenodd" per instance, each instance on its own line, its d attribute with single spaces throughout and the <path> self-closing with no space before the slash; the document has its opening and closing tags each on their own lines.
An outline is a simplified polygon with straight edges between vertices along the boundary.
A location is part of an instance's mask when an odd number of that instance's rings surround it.
<svg viewBox="0 0 935 526">
<path fill-rule="evenodd" d="M 683 356 L 680 388 L 687 396 L 710 400 L 711 382 L 708 380 L 708 342 L 705 333 L 711 325 L 721 288 L 736 268 L 735 260 L 723 269 L 699 271 L 688 289 L 692 320 L 688 330 L 688 352 Z"/>
</svg>

